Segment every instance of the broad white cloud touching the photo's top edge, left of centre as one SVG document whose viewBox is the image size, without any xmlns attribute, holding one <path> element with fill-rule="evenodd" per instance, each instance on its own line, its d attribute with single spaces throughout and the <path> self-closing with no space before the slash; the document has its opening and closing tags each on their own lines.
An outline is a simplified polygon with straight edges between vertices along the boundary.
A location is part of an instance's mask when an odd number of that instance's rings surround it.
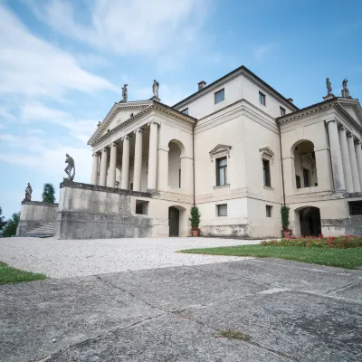
<svg viewBox="0 0 362 362">
<path fill-rule="evenodd" d="M 77 6 L 91 18 L 81 24 L 70 1 L 28 2 L 53 30 L 119 54 L 157 52 L 167 45 L 190 43 L 202 26 L 209 0 L 96 0 Z"/>
</svg>

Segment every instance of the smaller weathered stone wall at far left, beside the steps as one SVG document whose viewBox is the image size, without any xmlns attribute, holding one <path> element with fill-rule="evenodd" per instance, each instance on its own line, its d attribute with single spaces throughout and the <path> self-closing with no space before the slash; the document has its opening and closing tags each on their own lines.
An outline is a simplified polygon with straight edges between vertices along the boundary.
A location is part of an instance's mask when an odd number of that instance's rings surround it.
<svg viewBox="0 0 362 362">
<path fill-rule="evenodd" d="M 43 223 L 54 222 L 57 209 L 58 204 L 23 201 L 16 234 L 27 233 Z"/>
</svg>

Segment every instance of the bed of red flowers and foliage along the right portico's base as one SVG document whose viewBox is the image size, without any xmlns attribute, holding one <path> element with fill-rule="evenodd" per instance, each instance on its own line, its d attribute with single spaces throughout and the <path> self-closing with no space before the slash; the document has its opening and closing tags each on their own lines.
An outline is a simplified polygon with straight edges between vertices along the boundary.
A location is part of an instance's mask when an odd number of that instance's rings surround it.
<svg viewBox="0 0 362 362">
<path fill-rule="evenodd" d="M 264 246 L 304 246 L 317 248 L 361 248 L 362 236 L 302 236 L 300 238 L 290 237 L 270 242 L 262 242 Z"/>
</svg>

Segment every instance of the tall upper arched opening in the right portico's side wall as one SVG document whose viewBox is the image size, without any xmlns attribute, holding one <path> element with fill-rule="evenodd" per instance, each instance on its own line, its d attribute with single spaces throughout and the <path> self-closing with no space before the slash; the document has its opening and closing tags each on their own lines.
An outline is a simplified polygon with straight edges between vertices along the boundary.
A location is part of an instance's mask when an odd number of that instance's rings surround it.
<svg viewBox="0 0 362 362">
<path fill-rule="evenodd" d="M 314 145 L 309 140 L 298 142 L 293 147 L 295 185 L 297 188 L 318 186 Z"/>
</svg>

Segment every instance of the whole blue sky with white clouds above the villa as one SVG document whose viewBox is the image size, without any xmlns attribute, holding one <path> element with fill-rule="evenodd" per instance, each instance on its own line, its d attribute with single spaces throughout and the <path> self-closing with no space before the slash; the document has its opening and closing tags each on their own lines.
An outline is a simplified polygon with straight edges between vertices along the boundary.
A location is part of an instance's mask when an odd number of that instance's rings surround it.
<svg viewBox="0 0 362 362">
<path fill-rule="evenodd" d="M 240 65 L 299 107 L 362 95 L 362 2 L 351 0 L 0 0 L 0 206 L 43 184 L 59 194 L 65 153 L 90 182 L 87 140 L 121 98 L 173 105 Z"/>
</svg>

